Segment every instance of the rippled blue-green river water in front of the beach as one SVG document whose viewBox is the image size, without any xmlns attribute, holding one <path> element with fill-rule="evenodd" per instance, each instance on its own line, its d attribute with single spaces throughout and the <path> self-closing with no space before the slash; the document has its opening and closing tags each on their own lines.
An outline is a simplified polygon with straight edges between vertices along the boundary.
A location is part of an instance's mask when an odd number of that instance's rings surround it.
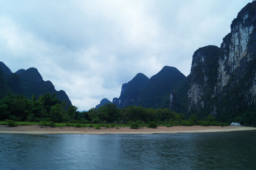
<svg viewBox="0 0 256 170">
<path fill-rule="evenodd" d="M 0 170 L 256 170 L 256 131 L 0 134 Z"/>
</svg>

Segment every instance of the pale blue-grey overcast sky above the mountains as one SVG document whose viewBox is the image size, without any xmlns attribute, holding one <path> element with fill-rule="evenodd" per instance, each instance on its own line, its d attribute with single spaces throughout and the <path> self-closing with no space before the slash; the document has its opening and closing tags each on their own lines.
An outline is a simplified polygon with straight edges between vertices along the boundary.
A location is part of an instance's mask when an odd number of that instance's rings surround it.
<svg viewBox="0 0 256 170">
<path fill-rule="evenodd" d="M 220 47 L 252 0 L 0 0 L 0 61 L 35 67 L 79 110 L 119 97 L 123 83 Z"/>
</svg>

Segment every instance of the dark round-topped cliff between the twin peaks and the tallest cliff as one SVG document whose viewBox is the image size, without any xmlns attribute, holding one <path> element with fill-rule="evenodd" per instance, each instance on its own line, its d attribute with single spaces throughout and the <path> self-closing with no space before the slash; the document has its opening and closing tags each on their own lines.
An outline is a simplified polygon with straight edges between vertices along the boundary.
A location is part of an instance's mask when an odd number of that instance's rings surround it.
<svg viewBox="0 0 256 170">
<path fill-rule="evenodd" d="M 205 106 L 210 107 L 217 83 L 218 59 L 221 49 L 209 45 L 194 52 L 190 88 L 188 90 L 188 111 L 203 112 Z"/>
</svg>

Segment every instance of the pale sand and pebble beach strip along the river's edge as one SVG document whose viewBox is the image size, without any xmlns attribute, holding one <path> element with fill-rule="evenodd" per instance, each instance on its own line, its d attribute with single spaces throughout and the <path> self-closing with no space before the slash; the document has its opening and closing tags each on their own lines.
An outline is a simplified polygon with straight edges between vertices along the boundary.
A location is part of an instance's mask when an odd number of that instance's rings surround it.
<svg viewBox="0 0 256 170">
<path fill-rule="evenodd" d="M 131 129 L 130 127 L 101 127 L 95 129 L 93 127 L 42 127 L 39 125 L 31 126 L 17 126 L 8 127 L 7 125 L 0 125 L 1 134 L 158 134 L 158 133 L 203 133 L 203 132 L 230 132 L 230 131 L 244 131 L 256 130 L 256 127 L 203 127 L 203 126 L 175 126 L 158 128 L 142 127 L 139 129 Z"/>
</svg>

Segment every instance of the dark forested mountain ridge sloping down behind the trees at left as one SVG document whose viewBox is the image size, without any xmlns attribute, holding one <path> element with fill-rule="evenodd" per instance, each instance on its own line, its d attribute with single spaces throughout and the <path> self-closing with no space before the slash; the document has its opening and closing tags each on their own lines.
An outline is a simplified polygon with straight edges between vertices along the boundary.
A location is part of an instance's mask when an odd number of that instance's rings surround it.
<svg viewBox="0 0 256 170">
<path fill-rule="evenodd" d="M 36 68 L 19 69 L 16 73 L 0 61 L 0 97 L 10 94 L 22 94 L 31 98 L 32 94 L 36 97 L 45 93 L 56 93 L 56 97 L 71 105 L 68 95 L 63 91 L 56 91 L 51 81 L 44 81 Z"/>
</svg>

